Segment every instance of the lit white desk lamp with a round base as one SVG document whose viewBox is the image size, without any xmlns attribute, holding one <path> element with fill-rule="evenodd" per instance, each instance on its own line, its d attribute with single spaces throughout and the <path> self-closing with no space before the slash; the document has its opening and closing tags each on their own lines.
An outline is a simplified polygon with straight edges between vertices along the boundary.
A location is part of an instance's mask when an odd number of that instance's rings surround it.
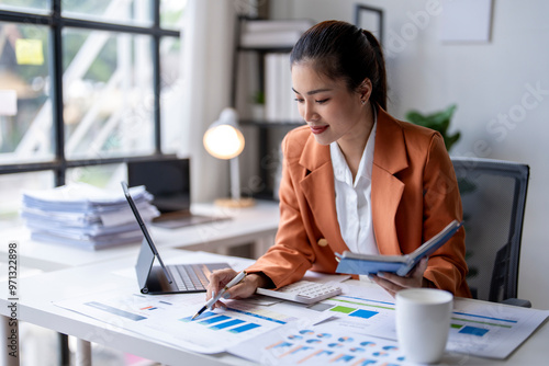
<svg viewBox="0 0 549 366">
<path fill-rule="evenodd" d="M 231 198 L 216 199 L 215 204 L 225 207 L 254 206 L 253 198 L 240 197 L 238 156 L 244 150 L 244 136 L 238 129 L 238 115 L 234 108 L 221 112 L 220 118 L 205 131 L 203 144 L 212 157 L 231 162 Z"/>
</svg>

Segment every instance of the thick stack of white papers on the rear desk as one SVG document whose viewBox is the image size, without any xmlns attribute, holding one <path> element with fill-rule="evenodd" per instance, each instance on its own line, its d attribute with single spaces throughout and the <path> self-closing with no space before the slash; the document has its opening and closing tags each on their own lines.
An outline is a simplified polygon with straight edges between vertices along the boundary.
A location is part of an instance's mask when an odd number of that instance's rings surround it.
<svg viewBox="0 0 549 366">
<path fill-rule="evenodd" d="M 130 188 L 145 221 L 159 216 L 145 186 Z M 21 216 L 32 239 L 94 250 L 143 239 L 141 228 L 122 192 L 85 183 L 47 191 L 25 192 Z"/>
</svg>

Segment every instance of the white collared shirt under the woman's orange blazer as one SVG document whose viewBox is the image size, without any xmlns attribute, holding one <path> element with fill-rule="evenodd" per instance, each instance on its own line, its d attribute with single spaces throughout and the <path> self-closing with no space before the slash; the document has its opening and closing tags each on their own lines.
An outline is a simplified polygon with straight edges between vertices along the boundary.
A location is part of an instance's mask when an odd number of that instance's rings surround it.
<svg viewBox="0 0 549 366">
<path fill-rule="evenodd" d="M 371 205 L 371 176 L 377 125 L 377 116 L 374 115 L 372 130 L 360 159 L 355 182 L 337 142 L 334 141 L 329 145 L 332 167 L 334 168 L 337 221 L 341 237 L 350 251 L 363 254 L 379 254 L 373 235 Z"/>
</svg>

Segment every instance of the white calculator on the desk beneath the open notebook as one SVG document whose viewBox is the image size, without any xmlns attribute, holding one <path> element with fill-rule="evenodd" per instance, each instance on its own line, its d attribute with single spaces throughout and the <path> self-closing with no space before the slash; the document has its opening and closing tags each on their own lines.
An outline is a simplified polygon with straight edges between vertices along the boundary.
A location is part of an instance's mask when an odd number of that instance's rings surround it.
<svg viewBox="0 0 549 366">
<path fill-rule="evenodd" d="M 256 294 L 301 304 L 314 304 L 341 294 L 341 288 L 303 279 L 279 289 L 258 288 Z"/>
</svg>

